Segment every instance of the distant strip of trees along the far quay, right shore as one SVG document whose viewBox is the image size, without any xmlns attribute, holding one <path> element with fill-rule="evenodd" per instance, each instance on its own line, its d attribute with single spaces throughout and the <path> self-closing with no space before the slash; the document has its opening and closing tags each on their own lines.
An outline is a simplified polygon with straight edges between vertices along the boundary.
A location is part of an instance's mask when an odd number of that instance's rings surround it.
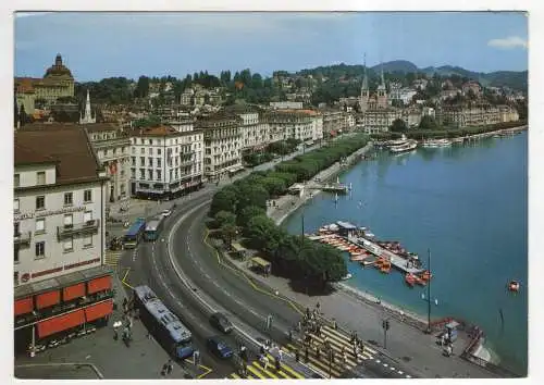
<svg viewBox="0 0 544 385">
<path fill-rule="evenodd" d="M 479 127 L 459 127 L 449 128 L 437 125 L 431 116 L 423 116 L 421 124 L 418 128 L 408 128 L 406 123 L 401 120 L 395 120 L 391 126 L 391 131 L 387 133 L 372 134 L 372 139 L 376 140 L 388 140 L 397 139 L 403 134 L 409 139 L 442 139 L 442 138 L 457 138 L 470 135 L 479 135 L 485 133 L 492 133 L 500 129 L 522 127 L 528 124 L 527 120 L 520 120 L 517 122 L 504 122 L 497 124 L 490 124 L 486 126 Z"/>
</svg>

